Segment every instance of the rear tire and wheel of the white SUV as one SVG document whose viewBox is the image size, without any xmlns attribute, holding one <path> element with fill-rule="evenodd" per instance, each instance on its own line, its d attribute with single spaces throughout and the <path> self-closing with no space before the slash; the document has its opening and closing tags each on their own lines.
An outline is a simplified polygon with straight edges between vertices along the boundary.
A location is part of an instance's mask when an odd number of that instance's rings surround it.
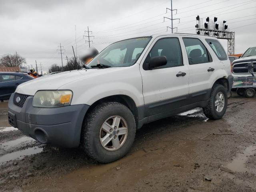
<svg viewBox="0 0 256 192">
<path fill-rule="evenodd" d="M 215 106 L 215 102 L 216 102 L 217 94 L 219 95 L 219 93 L 223 94 L 224 100 L 220 101 L 221 104 L 219 102 L 218 104 L 219 108 L 218 108 L 218 106 Z M 214 84 L 214 86 L 212 87 L 208 105 L 203 108 L 204 115 L 207 118 L 212 120 L 220 119 L 224 116 L 227 106 L 228 106 L 228 95 L 227 95 L 226 88 L 224 88 L 224 86 L 220 84 Z M 222 108 L 222 110 L 218 111 L 218 109 L 220 108 Z"/>
</svg>

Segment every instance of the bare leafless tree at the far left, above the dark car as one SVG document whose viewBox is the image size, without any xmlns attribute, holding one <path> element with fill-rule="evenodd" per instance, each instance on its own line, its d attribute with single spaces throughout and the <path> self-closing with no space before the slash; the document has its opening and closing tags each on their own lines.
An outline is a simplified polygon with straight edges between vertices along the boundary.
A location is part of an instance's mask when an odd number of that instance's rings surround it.
<svg viewBox="0 0 256 192">
<path fill-rule="evenodd" d="M 0 58 L 1 67 L 17 67 L 26 64 L 26 59 L 19 54 L 6 54 Z"/>
</svg>

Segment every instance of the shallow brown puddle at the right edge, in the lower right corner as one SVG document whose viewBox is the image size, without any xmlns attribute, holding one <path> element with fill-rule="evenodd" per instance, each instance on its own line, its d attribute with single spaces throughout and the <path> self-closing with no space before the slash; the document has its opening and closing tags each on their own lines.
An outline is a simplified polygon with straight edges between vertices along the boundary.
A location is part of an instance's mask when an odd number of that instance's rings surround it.
<svg viewBox="0 0 256 192">
<path fill-rule="evenodd" d="M 246 148 L 243 153 L 237 155 L 234 160 L 225 165 L 226 168 L 234 171 L 234 172 L 246 172 L 249 169 L 245 166 L 246 161 L 251 155 L 256 154 L 256 146 L 250 146 Z"/>
</svg>

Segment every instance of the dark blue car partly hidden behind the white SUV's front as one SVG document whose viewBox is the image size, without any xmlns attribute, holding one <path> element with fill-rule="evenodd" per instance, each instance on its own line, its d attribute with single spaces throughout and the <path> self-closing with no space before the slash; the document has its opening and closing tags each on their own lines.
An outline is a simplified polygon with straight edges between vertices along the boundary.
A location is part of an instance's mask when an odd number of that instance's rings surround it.
<svg viewBox="0 0 256 192">
<path fill-rule="evenodd" d="M 19 84 L 33 79 L 22 72 L 0 72 L 0 101 L 8 100 Z"/>
</svg>

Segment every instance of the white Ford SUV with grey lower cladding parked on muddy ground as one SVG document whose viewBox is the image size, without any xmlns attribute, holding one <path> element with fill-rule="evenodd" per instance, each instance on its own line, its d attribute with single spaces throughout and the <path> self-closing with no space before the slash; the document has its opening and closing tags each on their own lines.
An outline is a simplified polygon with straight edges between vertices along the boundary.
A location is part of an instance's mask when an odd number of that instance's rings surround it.
<svg viewBox="0 0 256 192">
<path fill-rule="evenodd" d="M 216 38 L 158 34 L 111 44 L 81 70 L 16 89 L 9 122 L 45 144 L 78 147 L 98 162 L 124 156 L 143 124 L 196 107 L 222 118 L 233 77 Z"/>
</svg>

